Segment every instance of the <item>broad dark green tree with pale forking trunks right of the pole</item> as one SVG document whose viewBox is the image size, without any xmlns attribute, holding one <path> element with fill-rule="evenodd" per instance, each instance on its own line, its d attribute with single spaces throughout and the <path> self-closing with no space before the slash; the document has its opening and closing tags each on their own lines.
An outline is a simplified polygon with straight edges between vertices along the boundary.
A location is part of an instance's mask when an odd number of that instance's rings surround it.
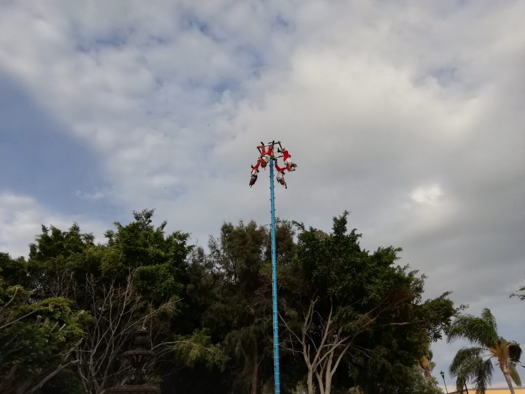
<svg viewBox="0 0 525 394">
<path fill-rule="evenodd" d="M 283 334 L 303 357 L 308 394 L 357 385 L 386 392 L 370 385 L 386 375 L 378 371 L 417 366 L 455 313 L 447 293 L 421 304 L 424 278 L 395 264 L 401 249 L 362 250 L 361 234 L 346 230 L 347 216 L 334 217 L 330 234 L 299 224 L 296 257 L 280 276 Z M 350 379 L 337 373 L 342 365 Z"/>
</svg>

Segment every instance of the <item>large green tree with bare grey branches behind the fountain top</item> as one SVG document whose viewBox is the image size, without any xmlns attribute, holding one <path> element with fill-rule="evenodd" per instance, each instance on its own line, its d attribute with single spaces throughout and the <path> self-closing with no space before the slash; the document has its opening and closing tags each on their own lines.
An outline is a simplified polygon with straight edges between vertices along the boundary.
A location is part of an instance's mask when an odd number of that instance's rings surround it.
<svg viewBox="0 0 525 394">
<path fill-rule="evenodd" d="M 67 231 L 43 226 L 30 245 L 27 272 L 34 296 L 59 295 L 69 299 L 72 310 L 90 312 L 84 340 L 75 349 L 75 369 L 92 394 L 122 379 L 120 354 L 136 329 L 148 327 L 152 346 L 159 345 L 160 371 L 173 370 L 177 354 L 184 357 L 173 346 L 178 337 L 189 335 L 186 344 L 197 338 L 182 315 L 187 309 L 181 299 L 187 295 L 189 235 L 165 235 L 166 222 L 152 225 L 153 210 L 133 215 L 127 225 L 116 222 L 104 244 L 96 245 L 75 223 Z M 177 318 L 175 308 L 181 311 Z"/>
</svg>

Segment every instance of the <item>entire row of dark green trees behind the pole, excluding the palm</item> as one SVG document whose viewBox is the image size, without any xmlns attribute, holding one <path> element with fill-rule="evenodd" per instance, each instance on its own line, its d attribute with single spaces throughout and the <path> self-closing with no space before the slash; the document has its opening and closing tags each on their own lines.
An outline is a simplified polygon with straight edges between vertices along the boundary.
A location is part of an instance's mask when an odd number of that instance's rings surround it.
<svg viewBox="0 0 525 394">
<path fill-rule="evenodd" d="M 156 353 L 147 379 L 166 394 L 272 392 L 268 227 L 224 223 L 206 252 L 153 213 L 114 223 L 102 243 L 77 223 L 50 225 L 27 261 L 0 253 L 0 392 L 118 385 L 140 327 Z M 401 249 L 365 251 L 347 225 L 347 213 L 330 233 L 277 221 L 281 392 L 434 394 L 418 364 L 430 367 L 458 309 L 448 293 L 423 301 L 424 276 L 397 265 Z"/>
</svg>

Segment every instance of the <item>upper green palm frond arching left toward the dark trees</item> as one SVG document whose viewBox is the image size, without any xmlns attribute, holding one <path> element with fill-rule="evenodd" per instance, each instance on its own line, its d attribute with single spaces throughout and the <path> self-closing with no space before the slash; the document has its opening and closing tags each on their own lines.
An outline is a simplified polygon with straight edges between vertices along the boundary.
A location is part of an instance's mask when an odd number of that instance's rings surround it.
<svg viewBox="0 0 525 394">
<path fill-rule="evenodd" d="M 498 343 L 499 337 L 492 322 L 472 315 L 463 315 L 454 320 L 448 331 L 447 342 L 455 339 L 467 339 L 476 345 L 491 347 Z"/>
</svg>

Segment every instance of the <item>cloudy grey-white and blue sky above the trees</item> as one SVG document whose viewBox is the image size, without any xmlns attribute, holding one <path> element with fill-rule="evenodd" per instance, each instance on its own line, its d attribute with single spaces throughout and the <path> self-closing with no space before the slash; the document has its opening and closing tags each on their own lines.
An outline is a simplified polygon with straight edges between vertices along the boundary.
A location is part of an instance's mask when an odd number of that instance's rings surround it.
<svg viewBox="0 0 525 394">
<path fill-rule="evenodd" d="M 299 170 L 277 214 L 404 248 L 525 343 L 525 3 L 0 0 L 0 250 L 156 208 L 205 245 L 269 222 L 255 145 Z M 267 175 L 261 172 L 260 175 Z M 434 346 L 448 370 L 460 344 Z M 499 375 L 495 379 L 501 382 Z M 453 381 L 447 376 L 449 387 Z"/>
</svg>

